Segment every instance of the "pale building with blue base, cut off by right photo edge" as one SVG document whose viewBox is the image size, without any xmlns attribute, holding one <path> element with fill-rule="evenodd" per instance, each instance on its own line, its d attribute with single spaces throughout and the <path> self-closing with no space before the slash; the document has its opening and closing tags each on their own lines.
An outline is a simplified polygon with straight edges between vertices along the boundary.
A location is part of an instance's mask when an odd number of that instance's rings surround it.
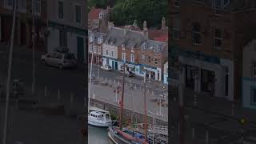
<svg viewBox="0 0 256 144">
<path fill-rule="evenodd" d="M 242 53 L 242 104 L 256 109 L 256 40 L 250 42 Z"/>
</svg>

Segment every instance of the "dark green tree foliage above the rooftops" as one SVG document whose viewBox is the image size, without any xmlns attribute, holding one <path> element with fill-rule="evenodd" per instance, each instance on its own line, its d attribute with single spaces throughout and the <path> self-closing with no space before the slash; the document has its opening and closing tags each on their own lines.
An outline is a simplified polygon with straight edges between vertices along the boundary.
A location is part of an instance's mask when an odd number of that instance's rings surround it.
<svg viewBox="0 0 256 144">
<path fill-rule="evenodd" d="M 167 22 L 167 7 L 167 0 L 119 0 L 111 10 L 110 21 L 115 26 L 124 26 L 136 19 L 141 28 L 144 21 L 148 27 L 160 27 L 162 17 Z"/>
</svg>

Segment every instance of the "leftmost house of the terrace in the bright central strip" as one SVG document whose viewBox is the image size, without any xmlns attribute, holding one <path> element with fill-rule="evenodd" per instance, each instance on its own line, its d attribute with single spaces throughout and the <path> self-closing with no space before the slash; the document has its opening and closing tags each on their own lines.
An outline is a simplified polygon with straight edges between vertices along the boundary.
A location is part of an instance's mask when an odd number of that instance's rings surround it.
<svg viewBox="0 0 256 144">
<path fill-rule="evenodd" d="M 92 52 L 94 51 L 94 64 L 102 65 L 102 43 L 106 34 L 88 30 L 89 35 L 89 62 L 91 62 Z"/>
</svg>

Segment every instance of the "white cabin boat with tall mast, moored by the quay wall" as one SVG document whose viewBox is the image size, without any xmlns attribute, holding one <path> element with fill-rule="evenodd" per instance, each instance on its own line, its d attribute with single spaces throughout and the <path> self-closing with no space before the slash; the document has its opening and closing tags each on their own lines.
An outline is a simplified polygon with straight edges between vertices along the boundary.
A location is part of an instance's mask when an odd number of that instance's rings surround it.
<svg viewBox="0 0 256 144">
<path fill-rule="evenodd" d="M 92 53 L 90 63 L 90 83 L 88 93 L 88 124 L 91 126 L 108 127 L 112 124 L 110 112 L 107 110 L 100 109 L 98 107 L 90 106 L 90 84 L 92 80 L 92 65 L 93 65 L 94 53 Z"/>
</svg>

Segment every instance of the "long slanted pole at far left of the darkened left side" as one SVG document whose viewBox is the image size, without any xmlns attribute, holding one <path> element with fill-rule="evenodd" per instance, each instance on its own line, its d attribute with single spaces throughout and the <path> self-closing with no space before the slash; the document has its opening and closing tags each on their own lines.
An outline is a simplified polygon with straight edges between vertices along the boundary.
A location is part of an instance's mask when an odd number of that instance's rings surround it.
<svg viewBox="0 0 256 144">
<path fill-rule="evenodd" d="M 3 127 L 3 138 L 2 144 L 6 144 L 7 139 L 7 126 L 8 126 L 8 112 L 9 112 L 9 98 L 10 98 L 10 72 L 13 58 L 13 49 L 14 49 L 14 30 L 15 30 L 15 20 L 16 20 L 16 0 L 14 0 L 14 17 L 13 17 L 13 26 L 11 30 L 10 37 L 10 54 L 9 54 L 9 65 L 8 65 L 8 77 L 7 77 L 7 86 L 6 86 L 6 109 L 5 109 L 5 118 L 4 118 L 4 127 Z"/>
</svg>

